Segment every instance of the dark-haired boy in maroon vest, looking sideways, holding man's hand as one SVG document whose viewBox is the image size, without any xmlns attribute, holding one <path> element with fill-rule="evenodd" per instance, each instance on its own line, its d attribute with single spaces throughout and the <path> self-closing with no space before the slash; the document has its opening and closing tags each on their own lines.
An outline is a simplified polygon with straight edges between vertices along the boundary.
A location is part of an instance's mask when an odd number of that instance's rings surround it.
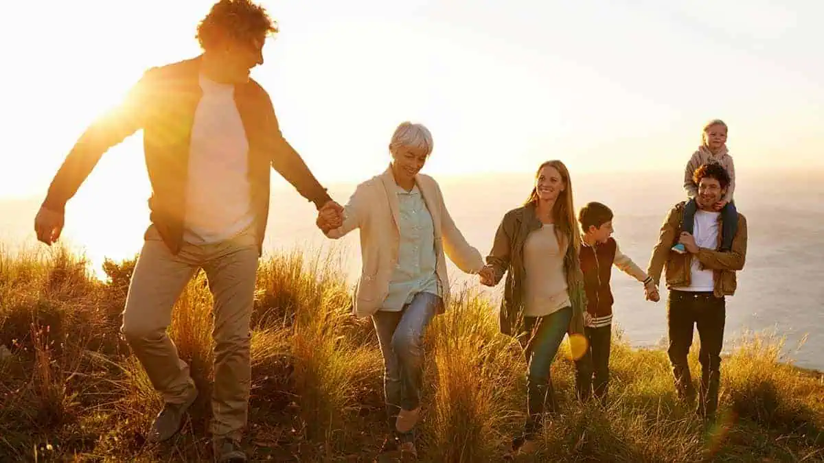
<svg viewBox="0 0 824 463">
<path fill-rule="evenodd" d="M 584 334 L 587 336 L 592 376 L 582 378 L 583 391 L 594 386 L 595 395 L 606 399 L 606 385 L 610 375 L 610 344 L 612 339 L 612 265 L 644 283 L 648 300 L 658 301 L 658 288 L 629 257 L 618 249 L 612 238 L 612 211 L 602 203 L 588 203 L 578 213 L 583 232 L 580 260 L 583 285 L 587 293 L 587 311 L 584 312 Z M 589 384 L 587 384 L 587 382 Z"/>
</svg>

